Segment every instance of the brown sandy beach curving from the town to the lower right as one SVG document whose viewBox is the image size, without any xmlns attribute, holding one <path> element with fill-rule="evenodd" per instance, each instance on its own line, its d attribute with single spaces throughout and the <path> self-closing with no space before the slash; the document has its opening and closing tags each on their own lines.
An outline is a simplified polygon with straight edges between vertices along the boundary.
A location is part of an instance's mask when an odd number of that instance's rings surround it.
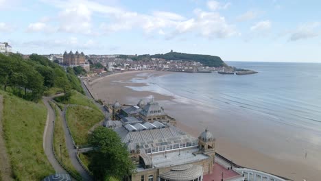
<svg viewBox="0 0 321 181">
<path fill-rule="evenodd" d="M 219 154 L 233 160 L 233 162 L 244 167 L 262 170 L 278 176 L 284 176 L 292 180 L 320 180 L 320 167 L 311 167 L 305 160 L 287 159 L 287 155 L 270 156 L 262 150 L 253 149 L 250 145 L 269 144 L 258 143 L 256 138 L 240 143 L 238 140 L 248 131 L 261 132 L 260 122 L 249 121 L 251 115 L 238 117 L 244 128 L 242 134 L 237 134 L 239 129 L 229 114 L 215 114 L 217 110 L 204 110 L 193 105 L 193 102 L 177 101 L 174 95 L 162 95 L 151 91 L 136 91 L 129 87 L 146 86 L 145 83 L 132 82 L 132 79 L 141 80 L 148 77 L 156 77 L 168 74 L 160 71 L 134 71 L 117 73 L 106 77 L 95 78 L 88 81 L 88 88 L 93 93 L 95 99 L 102 99 L 108 103 L 119 101 L 121 104 L 136 104 L 139 99 L 148 99 L 151 96 L 165 108 L 165 112 L 178 121 L 178 127 L 193 136 L 198 136 L 205 128 L 209 128 L 216 136 L 215 149 Z M 129 86 L 129 87 L 128 87 Z M 205 105 L 206 106 L 206 105 Z M 216 116 L 217 115 L 217 116 Z M 225 136 L 224 132 L 229 132 L 233 136 Z M 235 132 L 235 134 L 234 134 Z M 278 135 L 278 134 L 276 134 Z M 274 136 L 273 130 L 265 130 L 262 136 L 270 136 L 270 141 L 278 139 Z M 248 138 L 248 137 L 247 137 Z M 283 145 L 279 145 L 282 147 Z M 278 149 L 278 147 L 271 148 Z M 313 158 L 311 158 L 313 159 Z"/>
</svg>

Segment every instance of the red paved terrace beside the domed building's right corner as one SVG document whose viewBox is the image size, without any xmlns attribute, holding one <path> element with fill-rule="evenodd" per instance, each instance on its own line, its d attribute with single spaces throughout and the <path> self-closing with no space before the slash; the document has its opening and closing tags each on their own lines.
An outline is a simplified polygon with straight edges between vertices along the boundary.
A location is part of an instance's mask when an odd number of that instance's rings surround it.
<svg viewBox="0 0 321 181">
<path fill-rule="evenodd" d="M 235 176 L 240 176 L 239 173 L 236 173 L 233 170 L 228 170 L 222 167 L 215 162 L 213 165 L 213 172 L 211 174 L 207 174 L 203 176 L 204 181 L 221 181 L 222 180 L 222 172 L 223 172 L 223 180 L 228 178 L 233 178 Z"/>
</svg>

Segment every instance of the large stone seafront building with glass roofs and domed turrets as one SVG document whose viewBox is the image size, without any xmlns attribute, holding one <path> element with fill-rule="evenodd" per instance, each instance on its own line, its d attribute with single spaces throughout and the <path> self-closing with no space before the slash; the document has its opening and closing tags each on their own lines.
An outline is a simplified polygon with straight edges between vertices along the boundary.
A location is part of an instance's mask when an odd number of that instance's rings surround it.
<svg viewBox="0 0 321 181">
<path fill-rule="evenodd" d="M 236 165 L 215 152 L 215 138 L 205 129 L 198 138 L 176 128 L 152 99 L 136 105 L 112 104 L 112 120 L 104 122 L 126 145 L 136 165 L 132 181 L 287 181 L 270 173 Z M 174 119 L 175 120 L 175 119 Z"/>
</svg>

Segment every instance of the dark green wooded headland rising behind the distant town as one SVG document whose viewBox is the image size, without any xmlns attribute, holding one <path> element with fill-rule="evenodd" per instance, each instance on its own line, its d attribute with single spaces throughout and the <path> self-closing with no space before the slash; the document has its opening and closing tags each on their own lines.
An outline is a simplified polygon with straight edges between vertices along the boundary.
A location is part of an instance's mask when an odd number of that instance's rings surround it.
<svg viewBox="0 0 321 181">
<path fill-rule="evenodd" d="M 165 54 L 155 54 L 151 58 L 163 58 L 166 60 L 185 60 L 200 62 L 208 67 L 228 67 L 219 56 L 209 56 L 200 54 L 189 54 L 179 52 L 169 52 Z"/>
</svg>

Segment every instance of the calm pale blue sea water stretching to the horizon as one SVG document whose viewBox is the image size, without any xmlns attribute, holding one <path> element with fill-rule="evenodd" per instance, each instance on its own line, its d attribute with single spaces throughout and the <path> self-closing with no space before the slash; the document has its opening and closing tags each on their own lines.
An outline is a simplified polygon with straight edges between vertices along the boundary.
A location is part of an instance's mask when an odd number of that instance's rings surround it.
<svg viewBox="0 0 321 181">
<path fill-rule="evenodd" d="M 149 82 L 222 109 L 242 109 L 289 126 L 321 132 L 321 64 L 228 62 L 254 75 L 175 73 Z"/>
</svg>

